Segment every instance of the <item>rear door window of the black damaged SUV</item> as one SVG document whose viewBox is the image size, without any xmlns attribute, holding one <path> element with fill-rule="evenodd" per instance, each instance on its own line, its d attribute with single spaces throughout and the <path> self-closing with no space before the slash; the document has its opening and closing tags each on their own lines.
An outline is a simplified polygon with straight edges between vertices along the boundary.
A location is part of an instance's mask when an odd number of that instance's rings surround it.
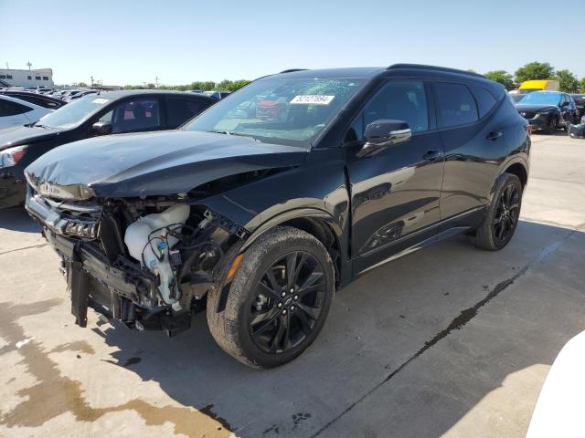
<svg viewBox="0 0 585 438">
<path fill-rule="evenodd" d="M 463 84 L 435 84 L 438 101 L 439 127 L 466 125 L 478 119 L 472 93 Z"/>
</svg>

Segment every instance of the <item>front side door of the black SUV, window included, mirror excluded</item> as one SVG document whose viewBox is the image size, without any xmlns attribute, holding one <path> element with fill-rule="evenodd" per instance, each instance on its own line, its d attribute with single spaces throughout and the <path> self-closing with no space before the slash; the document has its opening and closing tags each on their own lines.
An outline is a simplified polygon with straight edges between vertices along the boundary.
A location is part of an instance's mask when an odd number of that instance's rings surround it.
<svg viewBox="0 0 585 438">
<path fill-rule="evenodd" d="M 360 140 L 374 120 L 404 120 L 410 141 L 348 160 L 354 274 L 436 234 L 443 174 L 441 137 L 434 130 L 430 87 L 420 79 L 391 79 L 354 121 Z"/>
</svg>

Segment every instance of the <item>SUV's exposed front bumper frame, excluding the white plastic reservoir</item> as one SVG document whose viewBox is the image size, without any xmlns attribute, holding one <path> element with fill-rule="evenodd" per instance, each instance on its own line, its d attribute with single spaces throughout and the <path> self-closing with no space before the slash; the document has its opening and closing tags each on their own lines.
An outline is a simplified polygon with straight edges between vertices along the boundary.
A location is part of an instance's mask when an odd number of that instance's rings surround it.
<svg viewBox="0 0 585 438">
<path fill-rule="evenodd" d="M 121 233 L 105 224 L 106 214 L 93 212 L 92 217 L 90 212 L 61 213 L 54 203 L 32 190 L 27 194 L 26 208 L 43 226 L 48 243 L 61 256 L 71 298 L 71 313 L 81 327 L 87 324 L 88 308 L 93 308 L 106 318 L 121 320 L 128 327 L 160 329 L 168 336 L 189 328 L 192 315 L 203 308 L 207 291 L 214 285 L 214 268 L 225 262 L 223 249 L 227 251 L 245 234 L 238 227 L 238 232 L 233 233 L 233 224 L 227 224 L 231 227 L 219 226 L 226 224 L 225 219 L 205 210 L 202 222 L 205 221 L 208 230 L 202 233 L 201 239 L 207 239 L 209 245 L 217 247 L 221 256 L 216 255 L 217 260 L 214 258 L 207 266 L 200 263 L 210 253 L 207 240 L 191 245 L 196 248 L 194 250 L 187 248 L 182 251 L 178 258 L 184 262 L 175 266 L 176 287 L 180 294 L 175 305 L 171 305 L 160 294 L 160 277 L 123 251 L 115 257 L 104 251 L 105 247 L 111 246 L 105 242 L 104 233 Z M 211 242 L 212 239 L 215 242 Z M 193 260 L 198 264 L 194 265 Z"/>
</svg>

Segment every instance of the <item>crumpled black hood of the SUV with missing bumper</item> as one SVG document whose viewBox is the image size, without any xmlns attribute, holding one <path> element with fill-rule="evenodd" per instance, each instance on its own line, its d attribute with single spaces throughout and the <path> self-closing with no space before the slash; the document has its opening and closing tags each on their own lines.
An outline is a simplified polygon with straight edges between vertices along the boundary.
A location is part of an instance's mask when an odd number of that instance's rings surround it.
<svg viewBox="0 0 585 438">
<path fill-rule="evenodd" d="M 75 141 L 27 169 L 29 181 L 90 187 L 101 197 L 186 193 L 241 172 L 292 167 L 307 151 L 248 137 L 165 130 Z"/>
</svg>

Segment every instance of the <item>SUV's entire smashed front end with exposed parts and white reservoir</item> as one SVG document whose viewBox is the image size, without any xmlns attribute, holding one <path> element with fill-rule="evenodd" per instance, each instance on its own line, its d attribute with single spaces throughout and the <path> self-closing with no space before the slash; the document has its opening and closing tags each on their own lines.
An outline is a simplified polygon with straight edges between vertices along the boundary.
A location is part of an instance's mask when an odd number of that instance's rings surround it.
<svg viewBox="0 0 585 438">
<path fill-rule="evenodd" d="M 62 259 L 81 327 L 94 308 L 168 336 L 189 328 L 227 254 L 248 235 L 187 194 L 67 201 L 29 187 L 27 211 Z"/>
</svg>

